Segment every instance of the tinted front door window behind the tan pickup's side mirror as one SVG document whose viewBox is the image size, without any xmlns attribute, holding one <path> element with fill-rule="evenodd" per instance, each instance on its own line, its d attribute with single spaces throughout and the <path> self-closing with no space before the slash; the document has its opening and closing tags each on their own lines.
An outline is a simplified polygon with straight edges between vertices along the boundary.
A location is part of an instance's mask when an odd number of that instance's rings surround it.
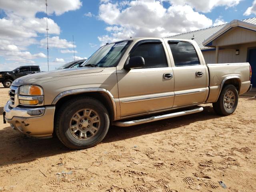
<svg viewBox="0 0 256 192">
<path fill-rule="evenodd" d="M 167 67 L 166 55 L 162 43 L 149 42 L 139 45 L 132 53 L 130 58 L 142 56 L 145 60 L 145 68 Z"/>
</svg>

